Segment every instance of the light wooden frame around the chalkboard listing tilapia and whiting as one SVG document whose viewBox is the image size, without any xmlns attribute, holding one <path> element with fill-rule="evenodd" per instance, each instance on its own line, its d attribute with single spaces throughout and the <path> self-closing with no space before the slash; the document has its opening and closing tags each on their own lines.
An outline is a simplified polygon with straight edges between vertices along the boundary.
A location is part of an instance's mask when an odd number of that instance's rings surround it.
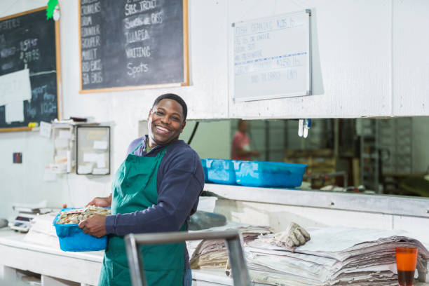
<svg viewBox="0 0 429 286">
<path fill-rule="evenodd" d="M 183 71 L 184 82 L 182 83 L 162 83 L 141 86 L 121 86 L 113 88 L 92 88 L 83 89 L 82 87 L 82 38 L 81 38 L 81 0 L 78 0 L 79 7 L 79 93 L 104 93 L 110 91 L 121 90 L 138 90 L 138 89 L 151 89 L 151 88 L 174 88 L 179 86 L 189 86 L 189 34 L 188 34 L 188 0 L 182 0 L 183 7 Z"/>
</svg>

